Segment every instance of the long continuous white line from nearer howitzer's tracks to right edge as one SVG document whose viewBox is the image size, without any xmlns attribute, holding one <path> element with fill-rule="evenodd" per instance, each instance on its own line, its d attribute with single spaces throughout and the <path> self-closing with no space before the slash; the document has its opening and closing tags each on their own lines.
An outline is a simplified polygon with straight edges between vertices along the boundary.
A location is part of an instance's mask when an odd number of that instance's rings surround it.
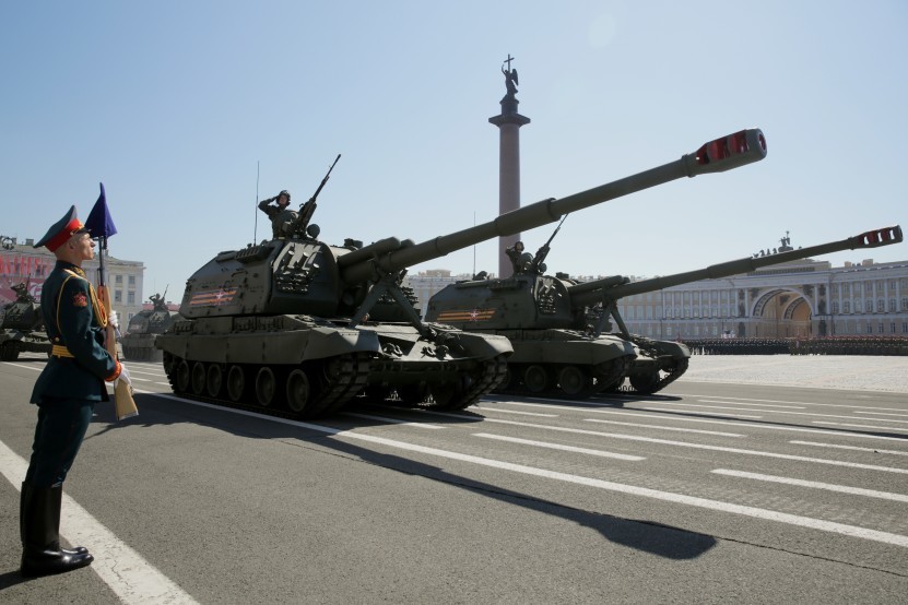
<svg viewBox="0 0 908 605">
<path fill-rule="evenodd" d="M 459 452 L 451 452 L 448 450 L 439 450 L 436 448 L 427 448 L 425 446 L 417 446 L 415 443 L 408 443 L 405 441 L 397 441 L 392 439 L 386 439 L 382 437 L 376 437 L 373 435 L 364 435 L 364 434 L 356 434 L 349 430 L 341 430 L 332 427 L 321 426 L 321 425 L 314 425 L 309 423 L 303 423 L 299 420 L 290 420 L 285 418 L 275 418 L 272 416 L 264 416 L 262 414 L 257 414 L 255 412 L 246 412 L 243 410 L 229 410 L 225 407 L 221 407 L 217 405 L 211 405 L 208 403 L 201 403 L 197 401 L 189 401 L 185 399 L 180 399 L 174 395 L 162 394 L 161 396 L 166 399 L 173 399 L 176 401 L 180 401 L 184 403 L 188 403 L 191 405 L 198 405 L 201 407 L 210 407 L 213 410 L 219 410 L 226 413 L 234 413 L 244 416 L 252 416 L 266 420 L 271 420 L 280 424 L 297 426 L 300 428 L 307 428 L 310 430 L 315 430 L 318 432 L 323 432 L 334 437 L 345 437 L 349 439 L 358 439 L 361 441 L 369 441 L 373 443 L 380 443 L 384 446 L 399 448 L 402 450 L 408 451 L 416 451 L 429 455 L 437 455 L 439 458 L 447 458 L 449 460 L 459 460 L 461 462 L 469 462 L 472 464 L 477 464 L 482 466 L 490 466 L 495 468 L 502 468 L 505 471 L 511 471 L 515 473 L 522 473 L 526 475 L 532 475 L 538 477 L 551 478 L 554 481 L 562 481 L 567 483 L 574 483 L 579 485 L 586 485 L 590 487 L 597 487 L 600 489 L 605 489 L 610 491 L 617 491 L 621 494 L 628 494 L 632 496 L 640 496 L 644 498 L 652 498 L 656 500 L 661 500 L 665 502 L 674 502 L 680 505 L 686 505 L 697 508 L 704 508 L 708 510 L 718 510 L 722 512 L 728 512 L 731 514 L 741 514 L 745 517 L 753 517 L 756 519 L 764 519 L 767 521 L 776 521 L 779 523 L 787 523 L 790 525 L 798 525 L 801 527 L 809 527 L 814 530 L 819 530 L 824 532 L 836 533 L 840 535 L 847 535 L 852 537 L 859 537 L 862 539 L 870 539 L 873 542 L 882 542 L 885 544 L 893 544 L 896 546 L 908 547 L 908 536 L 899 535 L 899 534 L 892 534 L 888 532 L 881 532 L 877 530 L 869 530 L 866 527 L 858 527 L 856 525 L 846 525 L 844 523 L 835 523 L 832 521 L 823 521 L 819 519 L 813 519 L 810 517 L 801 517 L 797 514 L 788 514 L 785 512 L 777 512 L 767 509 L 759 509 L 756 507 L 746 507 L 741 505 L 733 505 L 730 502 L 722 502 L 718 500 L 709 500 L 706 498 L 697 498 L 694 496 L 685 496 L 683 494 L 673 494 L 671 491 L 661 491 L 658 489 L 650 489 L 647 487 L 637 487 L 633 485 L 625 485 L 614 482 L 605 482 L 602 479 L 594 479 L 591 477 L 581 477 L 578 475 L 569 475 L 567 473 L 558 473 L 556 471 L 545 471 L 543 468 L 536 468 L 533 466 L 526 466 L 522 464 L 514 464 L 510 462 L 503 462 L 498 460 L 491 460 L 487 458 L 480 458 L 470 454 L 462 454 Z M 504 422 L 504 420 L 499 420 Z"/>
</svg>

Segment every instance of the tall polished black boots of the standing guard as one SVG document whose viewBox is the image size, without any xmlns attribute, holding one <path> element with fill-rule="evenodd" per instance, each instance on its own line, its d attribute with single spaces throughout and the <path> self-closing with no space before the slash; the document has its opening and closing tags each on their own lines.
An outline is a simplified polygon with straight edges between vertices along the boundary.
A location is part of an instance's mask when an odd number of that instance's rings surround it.
<svg viewBox="0 0 908 605">
<path fill-rule="evenodd" d="M 60 548 L 62 486 L 23 489 L 21 506 L 22 576 L 63 573 L 91 565 L 90 553 Z"/>
</svg>

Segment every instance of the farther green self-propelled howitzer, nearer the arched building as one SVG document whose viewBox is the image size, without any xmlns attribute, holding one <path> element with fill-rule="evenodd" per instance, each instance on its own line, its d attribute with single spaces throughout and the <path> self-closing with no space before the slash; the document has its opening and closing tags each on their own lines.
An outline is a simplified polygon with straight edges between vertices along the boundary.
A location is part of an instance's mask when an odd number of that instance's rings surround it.
<svg viewBox="0 0 908 605">
<path fill-rule="evenodd" d="M 543 261 L 550 239 L 535 257 L 523 254 L 510 277 L 445 287 L 429 300 L 426 318 L 507 336 L 514 355 L 508 359 L 509 378 L 503 382 L 503 391 L 576 398 L 615 390 L 627 378 L 634 391 L 655 393 L 684 373 L 691 352 L 682 343 L 629 333 L 618 315 L 621 298 L 901 239 L 900 227 L 886 227 L 841 241 L 634 283 L 621 275 L 586 283 L 563 273 L 545 275 Z M 610 333 L 611 320 L 620 330 L 615 334 Z"/>
</svg>

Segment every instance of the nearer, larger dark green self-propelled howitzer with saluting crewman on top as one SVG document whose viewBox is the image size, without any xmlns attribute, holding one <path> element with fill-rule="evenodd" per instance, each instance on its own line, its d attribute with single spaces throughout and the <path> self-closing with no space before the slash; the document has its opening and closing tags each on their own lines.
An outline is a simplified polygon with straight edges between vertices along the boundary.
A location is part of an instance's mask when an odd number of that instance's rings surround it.
<svg viewBox="0 0 908 605">
<path fill-rule="evenodd" d="M 186 284 L 180 318 L 155 341 L 178 393 L 268 407 L 303 417 L 353 398 L 463 408 L 506 377 L 512 353 L 496 334 L 424 322 L 406 268 L 474 244 L 682 177 L 762 159 L 759 130 L 703 145 L 663 166 L 422 244 L 389 237 L 363 246 L 317 239 L 297 222 L 285 237 L 219 253 Z"/>
</svg>

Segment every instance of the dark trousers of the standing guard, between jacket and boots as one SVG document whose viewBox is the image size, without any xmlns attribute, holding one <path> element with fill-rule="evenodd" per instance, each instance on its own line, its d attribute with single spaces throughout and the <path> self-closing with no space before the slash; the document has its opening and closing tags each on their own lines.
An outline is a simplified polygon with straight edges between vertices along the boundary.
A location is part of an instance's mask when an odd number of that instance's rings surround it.
<svg viewBox="0 0 908 605">
<path fill-rule="evenodd" d="M 25 483 L 56 487 L 67 478 L 92 422 L 95 402 L 49 399 L 38 404 L 38 424 Z"/>
</svg>

